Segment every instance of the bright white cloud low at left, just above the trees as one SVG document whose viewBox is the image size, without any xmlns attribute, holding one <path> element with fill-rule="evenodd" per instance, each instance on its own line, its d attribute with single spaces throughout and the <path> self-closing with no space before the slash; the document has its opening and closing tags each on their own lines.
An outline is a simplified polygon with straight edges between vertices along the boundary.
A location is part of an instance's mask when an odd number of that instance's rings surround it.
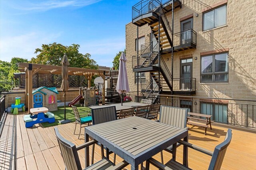
<svg viewBox="0 0 256 170">
<path fill-rule="evenodd" d="M 42 44 L 49 44 L 56 41 L 61 33 L 41 33 L 31 32 L 19 36 L 1 37 L 0 40 L 0 60 L 10 61 L 12 57 L 22 57 L 31 59 L 35 57 L 36 48 L 40 48 Z"/>
</svg>

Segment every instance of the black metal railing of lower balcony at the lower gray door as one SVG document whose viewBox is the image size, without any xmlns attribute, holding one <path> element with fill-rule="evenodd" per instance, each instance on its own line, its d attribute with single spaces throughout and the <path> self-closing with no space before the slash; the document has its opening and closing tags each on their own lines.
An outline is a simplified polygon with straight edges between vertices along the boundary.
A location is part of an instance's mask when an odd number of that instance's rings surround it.
<svg viewBox="0 0 256 170">
<path fill-rule="evenodd" d="M 196 78 L 173 78 L 173 90 L 196 91 Z"/>
</svg>

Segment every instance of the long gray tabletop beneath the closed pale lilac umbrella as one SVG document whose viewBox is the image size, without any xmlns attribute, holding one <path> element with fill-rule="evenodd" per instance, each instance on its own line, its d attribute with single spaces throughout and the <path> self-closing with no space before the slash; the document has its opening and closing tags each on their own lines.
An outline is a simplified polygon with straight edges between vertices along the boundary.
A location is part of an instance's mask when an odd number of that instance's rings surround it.
<svg viewBox="0 0 256 170">
<path fill-rule="evenodd" d="M 138 102 L 126 102 L 123 103 L 123 106 L 118 104 L 105 104 L 105 105 L 98 105 L 98 106 L 89 106 L 90 109 L 98 109 L 98 108 L 104 108 L 104 107 L 110 107 L 110 106 L 116 106 L 116 111 L 120 111 L 121 109 L 129 109 L 131 107 L 137 107 L 137 106 L 146 106 L 148 104 L 138 103 Z"/>
</svg>

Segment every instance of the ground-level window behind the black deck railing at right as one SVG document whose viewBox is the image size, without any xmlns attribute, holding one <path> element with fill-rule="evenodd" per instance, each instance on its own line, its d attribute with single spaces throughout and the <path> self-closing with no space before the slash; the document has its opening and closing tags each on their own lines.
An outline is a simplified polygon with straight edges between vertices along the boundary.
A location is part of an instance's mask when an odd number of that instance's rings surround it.
<svg viewBox="0 0 256 170">
<path fill-rule="evenodd" d="M 228 105 L 220 103 L 200 102 L 200 112 L 212 115 L 212 120 L 228 123 Z"/>
</svg>

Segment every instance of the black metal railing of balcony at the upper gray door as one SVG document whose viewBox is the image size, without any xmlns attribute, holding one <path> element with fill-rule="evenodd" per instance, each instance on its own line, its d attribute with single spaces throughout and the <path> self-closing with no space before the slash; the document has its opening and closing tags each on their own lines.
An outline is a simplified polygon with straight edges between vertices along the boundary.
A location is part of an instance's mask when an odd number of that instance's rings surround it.
<svg viewBox="0 0 256 170">
<path fill-rule="evenodd" d="M 196 31 L 187 29 L 173 35 L 173 46 L 194 43 L 196 45 Z"/>
</svg>

